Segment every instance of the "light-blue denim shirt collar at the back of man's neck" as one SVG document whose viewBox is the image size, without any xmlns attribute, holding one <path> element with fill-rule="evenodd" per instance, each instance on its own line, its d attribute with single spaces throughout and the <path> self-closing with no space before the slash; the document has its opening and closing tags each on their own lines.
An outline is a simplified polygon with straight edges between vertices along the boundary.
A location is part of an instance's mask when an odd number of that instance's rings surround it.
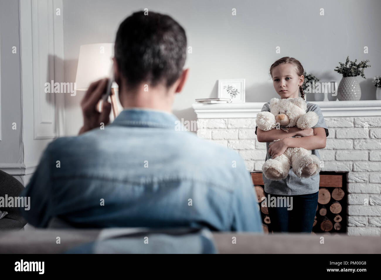
<svg viewBox="0 0 381 280">
<path fill-rule="evenodd" d="M 174 129 L 179 119 L 172 113 L 150 108 L 128 107 L 110 125 Z"/>
</svg>

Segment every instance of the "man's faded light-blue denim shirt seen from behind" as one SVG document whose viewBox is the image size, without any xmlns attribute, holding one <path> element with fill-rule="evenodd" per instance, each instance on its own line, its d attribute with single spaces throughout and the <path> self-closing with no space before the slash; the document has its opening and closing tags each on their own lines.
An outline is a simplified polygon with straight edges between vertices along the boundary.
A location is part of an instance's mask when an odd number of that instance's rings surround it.
<svg viewBox="0 0 381 280">
<path fill-rule="evenodd" d="M 35 227 L 202 227 L 263 232 L 243 159 L 165 111 L 124 109 L 114 122 L 43 152 L 21 196 Z"/>
</svg>

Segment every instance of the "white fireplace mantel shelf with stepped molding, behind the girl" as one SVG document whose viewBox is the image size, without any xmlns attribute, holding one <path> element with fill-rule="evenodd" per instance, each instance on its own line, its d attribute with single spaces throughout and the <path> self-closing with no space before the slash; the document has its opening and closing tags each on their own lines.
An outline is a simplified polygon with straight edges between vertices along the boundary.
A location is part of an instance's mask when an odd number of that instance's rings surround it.
<svg viewBox="0 0 381 280">
<path fill-rule="evenodd" d="M 197 118 L 255 118 L 266 102 L 192 104 Z M 324 117 L 381 116 L 381 100 L 311 101 Z"/>
</svg>

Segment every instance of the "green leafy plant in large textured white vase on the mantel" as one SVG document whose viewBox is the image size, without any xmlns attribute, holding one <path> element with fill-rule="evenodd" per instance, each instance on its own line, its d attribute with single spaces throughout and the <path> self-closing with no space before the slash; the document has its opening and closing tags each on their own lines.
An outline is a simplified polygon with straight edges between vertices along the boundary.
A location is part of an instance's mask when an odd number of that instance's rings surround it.
<svg viewBox="0 0 381 280">
<path fill-rule="evenodd" d="M 350 63 L 349 63 L 350 62 Z M 337 98 L 340 101 L 344 100 L 360 100 L 361 98 L 361 88 L 356 77 L 361 76 L 365 79 L 364 69 L 370 67 L 367 64 L 369 60 L 361 61 L 359 64 L 356 64 L 357 59 L 349 61 L 349 56 L 344 63 L 339 62 L 340 66 L 336 66 L 335 71 L 343 75 L 338 89 L 337 89 Z M 349 63 L 349 65 L 348 65 Z"/>
</svg>

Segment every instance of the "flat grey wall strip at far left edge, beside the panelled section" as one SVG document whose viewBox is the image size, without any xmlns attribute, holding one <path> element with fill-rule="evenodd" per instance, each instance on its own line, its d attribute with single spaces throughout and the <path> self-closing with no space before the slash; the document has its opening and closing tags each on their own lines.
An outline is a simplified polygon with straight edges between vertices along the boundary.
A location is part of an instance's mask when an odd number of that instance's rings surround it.
<svg viewBox="0 0 381 280">
<path fill-rule="evenodd" d="M 24 160 L 20 94 L 18 1 L 0 0 L 0 167 L 17 168 Z M 17 53 L 12 53 L 16 46 Z M 16 123 L 16 130 L 12 123 Z M 21 181 L 21 179 L 18 177 Z"/>
</svg>

